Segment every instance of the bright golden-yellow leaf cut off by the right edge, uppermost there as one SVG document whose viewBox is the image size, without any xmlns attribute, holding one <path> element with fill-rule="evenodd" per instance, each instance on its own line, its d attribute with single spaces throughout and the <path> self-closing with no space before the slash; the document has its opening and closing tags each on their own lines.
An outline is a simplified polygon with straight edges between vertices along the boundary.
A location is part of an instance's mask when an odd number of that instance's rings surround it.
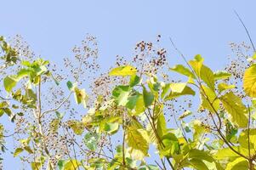
<svg viewBox="0 0 256 170">
<path fill-rule="evenodd" d="M 251 65 L 244 72 L 243 88 L 250 97 L 256 97 L 256 65 Z"/>
</svg>

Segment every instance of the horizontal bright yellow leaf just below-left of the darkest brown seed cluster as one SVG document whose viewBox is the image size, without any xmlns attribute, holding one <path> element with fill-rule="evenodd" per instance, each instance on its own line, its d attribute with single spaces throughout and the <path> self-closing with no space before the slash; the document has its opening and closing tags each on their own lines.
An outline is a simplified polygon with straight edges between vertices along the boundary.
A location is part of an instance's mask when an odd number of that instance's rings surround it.
<svg viewBox="0 0 256 170">
<path fill-rule="evenodd" d="M 110 76 L 133 76 L 137 72 L 136 68 L 131 65 L 120 66 L 110 71 Z"/>
</svg>

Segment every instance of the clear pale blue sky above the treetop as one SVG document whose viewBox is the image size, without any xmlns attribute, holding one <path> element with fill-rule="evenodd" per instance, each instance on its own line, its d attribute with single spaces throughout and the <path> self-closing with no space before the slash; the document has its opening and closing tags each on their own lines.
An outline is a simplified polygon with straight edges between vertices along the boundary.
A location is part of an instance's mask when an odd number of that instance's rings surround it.
<svg viewBox="0 0 256 170">
<path fill-rule="evenodd" d="M 37 54 L 54 62 L 69 55 L 87 33 L 98 38 L 105 68 L 117 54 L 132 54 L 136 42 L 161 34 L 170 65 L 178 59 L 168 41 L 173 37 L 187 58 L 202 54 L 218 70 L 231 54 L 229 42 L 248 42 L 234 9 L 256 42 L 255 0 L 0 0 L 0 6 L 0 35 L 20 34 Z"/>
</svg>

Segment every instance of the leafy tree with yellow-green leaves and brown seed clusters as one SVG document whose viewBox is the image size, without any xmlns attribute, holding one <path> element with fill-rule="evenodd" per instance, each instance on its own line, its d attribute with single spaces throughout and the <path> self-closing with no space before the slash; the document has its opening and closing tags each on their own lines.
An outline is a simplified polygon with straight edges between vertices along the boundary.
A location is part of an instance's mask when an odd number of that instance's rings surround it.
<svg viewBox="0 0 256 170">
<path fill-rule="evenodd" d="M 1 125 L 2 150 L 13 138 L 7 149 L 33 170 L 255 169 L 255 54 L 247 64 L 235 62 L 236 71 L 232 63 L 214 72 L 201 55 L 182 54 L 185 65 L 169 68 L 164 48 L 139 42 L 134 59 L 117 57 L 117 67 L 98 76 L 87 94 L 82 71 L 99 68 L 98 50 L 89 47 L 97 45 L 94 37 L 74 48 L 77 68 L 66 78 L 47 60 L 25 55 L 23 46 L 3 37 L 0 44 L 6 93 L 0 114 L 15 124 L 10 136 Z M 171 80 L 168 70 L 186 81 Z M 72 105 L 72 95 L 83 109 Z M 192 111 L 195 98 L 200 104 Z"/>
</svg>

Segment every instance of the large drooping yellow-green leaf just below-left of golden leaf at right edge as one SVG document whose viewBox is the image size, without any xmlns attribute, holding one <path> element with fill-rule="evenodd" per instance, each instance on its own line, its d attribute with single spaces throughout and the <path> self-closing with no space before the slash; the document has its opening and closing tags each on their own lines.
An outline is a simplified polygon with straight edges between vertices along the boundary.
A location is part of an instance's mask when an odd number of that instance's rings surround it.
<svg viewBox="0 0 256 170">
<path fill-rule="evenodd" d="M 242 104 L 242 100 L 232 92 L 223 95 L 220 100 L 230 114 L 231 122 L 239 127 L 247 127 L 247 108 Z"/>
</svg>

